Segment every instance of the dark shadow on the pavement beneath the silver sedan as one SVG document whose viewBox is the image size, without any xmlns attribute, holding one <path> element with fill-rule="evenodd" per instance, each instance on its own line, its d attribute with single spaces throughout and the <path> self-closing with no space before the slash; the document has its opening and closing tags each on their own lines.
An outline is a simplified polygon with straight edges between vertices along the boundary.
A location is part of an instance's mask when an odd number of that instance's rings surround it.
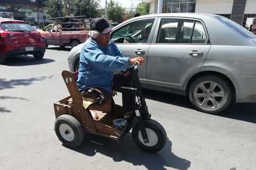
<svg viewBox="0 0 256 170">
<path fill-rule="evenodd" d="M 153 91 L 150 89 L 143 89 L 144 95 L 147 99 L 164 102 L 167 104 L 178 105 L 188 109 L 194 109 L 187 96 L 178 94 L 171 94 L 168 92 Z M 255 103 L 237 103 L 232 104 L 229 108 L 224 110 L 217 116 L 227 117 L 230 119 L 242 120 L 246 122 L 256 123 L 256 104 Z"/>
</svg>

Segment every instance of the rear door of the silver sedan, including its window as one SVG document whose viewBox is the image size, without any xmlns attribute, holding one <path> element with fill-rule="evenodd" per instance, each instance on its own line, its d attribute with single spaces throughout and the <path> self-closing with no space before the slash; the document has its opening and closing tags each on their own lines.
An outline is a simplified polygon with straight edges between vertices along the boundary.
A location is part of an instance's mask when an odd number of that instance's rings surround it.
<svg viewBox="0 0 256 170">
<path fill-rule="evenodd" d="M 147 55 L 147 83 L 182 90 L 211 45 L 201 20 L 161 18 Z"/>
</svg>

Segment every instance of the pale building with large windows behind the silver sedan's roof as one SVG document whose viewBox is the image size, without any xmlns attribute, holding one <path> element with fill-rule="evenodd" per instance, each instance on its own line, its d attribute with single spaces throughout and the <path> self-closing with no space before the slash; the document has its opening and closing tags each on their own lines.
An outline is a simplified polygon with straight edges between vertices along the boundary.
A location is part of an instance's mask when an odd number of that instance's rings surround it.
<svg viewBox="0 0 256 170">
<path fill-rule="evenodd" d="M 150 3 L 150 14 L 200 12 L 218 14 L 250 27 L 256 17 L 256 0 L 142 0 Z"/>
</svg>

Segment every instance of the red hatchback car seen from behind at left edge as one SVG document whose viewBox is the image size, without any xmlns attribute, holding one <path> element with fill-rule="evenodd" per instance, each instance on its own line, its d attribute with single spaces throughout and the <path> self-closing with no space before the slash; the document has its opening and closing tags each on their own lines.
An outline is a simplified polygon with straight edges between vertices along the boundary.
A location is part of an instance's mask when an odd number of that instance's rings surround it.
<svg viewBox="0 0 256 170">
<path fill-rule="evenodd" d="M 45 44 L 39 31 L 22 20 L 0 19 L 0 64 L 9 56 L 43 58 Z"/>
</svg>

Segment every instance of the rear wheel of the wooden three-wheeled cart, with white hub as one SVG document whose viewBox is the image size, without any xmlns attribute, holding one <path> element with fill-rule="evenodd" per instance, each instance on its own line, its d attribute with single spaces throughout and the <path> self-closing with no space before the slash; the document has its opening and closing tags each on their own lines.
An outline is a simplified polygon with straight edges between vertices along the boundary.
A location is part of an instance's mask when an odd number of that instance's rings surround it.
<svg viewBox="0 0 256 170">
<path fill-rule="evenodd" d="M 54 130 L 64 146 L 75 148 L 83 142 L 83 128 L 80 122 L 71 115 L 60 115 L 55 120 Z"/>
</svg>

